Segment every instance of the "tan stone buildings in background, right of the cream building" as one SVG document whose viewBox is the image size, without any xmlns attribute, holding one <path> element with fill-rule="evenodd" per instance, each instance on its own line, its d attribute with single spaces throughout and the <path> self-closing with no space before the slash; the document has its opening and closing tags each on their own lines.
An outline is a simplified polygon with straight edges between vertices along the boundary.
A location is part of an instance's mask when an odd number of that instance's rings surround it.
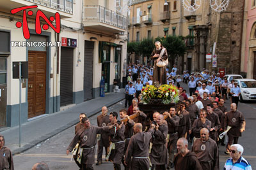
<svg viewBox="0 0 256 170">
<path fill-rule="evenodd" d="M 182 1 L 132 1 L 129 12 L 129 41 L 167 35 L 184 36 L 188 50 L 175 60 L 179 73 L 207 68 L 218 72 L 239 73 L 241 34 L 243 31 L 243 1 L 230 1 L 227 10 L 218 13 L 209 1 L 201 1 L 196 11 L 186 11 Z M 193 2 L 193 1 L 191 1 Z M 214 43 L 216 48 L 214 48 Z M 215 49 L 215 50 L 214 50 Z M 216 67 L 207 62 L 207 53 L 216 54 Z"/>
</svg>

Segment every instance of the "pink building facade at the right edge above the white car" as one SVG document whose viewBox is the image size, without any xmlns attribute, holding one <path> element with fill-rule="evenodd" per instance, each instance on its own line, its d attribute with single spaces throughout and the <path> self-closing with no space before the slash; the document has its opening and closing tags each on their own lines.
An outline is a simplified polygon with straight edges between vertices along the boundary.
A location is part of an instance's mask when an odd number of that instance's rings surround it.
<svg viewBox="0 0 256 170">
<path fill-rule="evenodd" d="M 256 1 L 245 1 L 241 72 L 256 79 Z"/>
</svg>

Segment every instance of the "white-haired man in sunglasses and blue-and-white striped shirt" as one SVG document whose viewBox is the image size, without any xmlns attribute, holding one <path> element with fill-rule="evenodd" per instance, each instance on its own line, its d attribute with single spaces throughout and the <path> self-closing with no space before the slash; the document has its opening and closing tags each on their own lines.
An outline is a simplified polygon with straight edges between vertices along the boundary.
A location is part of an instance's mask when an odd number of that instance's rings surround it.
<svg viewBox="0 0 256 170">
<path fill-rule="evenodd" d="M 231 152 L 230 152 L 231 158 L 229 158 L 226 161 L 224 170 L 226 170 L 226 169 L 252 170 L 252 166 L 250 165 L 250 163 L 246 159 L 244 159 L 244 157 L 242 157 L 243 152 L 244 152 L 243 146 L 241 146 L 239 144 L 231 145 Z"/>
</svg>

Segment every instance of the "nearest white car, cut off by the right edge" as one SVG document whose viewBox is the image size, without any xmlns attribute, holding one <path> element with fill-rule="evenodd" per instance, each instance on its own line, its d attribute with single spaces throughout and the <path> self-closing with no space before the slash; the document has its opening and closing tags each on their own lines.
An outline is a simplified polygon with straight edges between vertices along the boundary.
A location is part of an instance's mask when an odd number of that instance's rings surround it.
<svg viewBox="0 0 256 170">
<path fill-rule="evenodd" d="M 250 78 L 236 79 L 240 87 L 240 101 L 256 101 L 256 80 Z"/>
</svg>

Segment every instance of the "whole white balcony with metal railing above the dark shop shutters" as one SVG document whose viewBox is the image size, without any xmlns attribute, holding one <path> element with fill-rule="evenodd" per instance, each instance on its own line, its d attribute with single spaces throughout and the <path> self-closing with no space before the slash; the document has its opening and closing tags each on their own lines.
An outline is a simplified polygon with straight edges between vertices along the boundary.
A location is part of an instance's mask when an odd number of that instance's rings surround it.
<svg viewBox="0 0 256 170">
<path fill-rule="evenodd" d="M 127 31 L 127 17 L 118 15 L 99 5 L 86 5 L 83 8 L 85 28 L 112 33 Z"/>
</svg>

